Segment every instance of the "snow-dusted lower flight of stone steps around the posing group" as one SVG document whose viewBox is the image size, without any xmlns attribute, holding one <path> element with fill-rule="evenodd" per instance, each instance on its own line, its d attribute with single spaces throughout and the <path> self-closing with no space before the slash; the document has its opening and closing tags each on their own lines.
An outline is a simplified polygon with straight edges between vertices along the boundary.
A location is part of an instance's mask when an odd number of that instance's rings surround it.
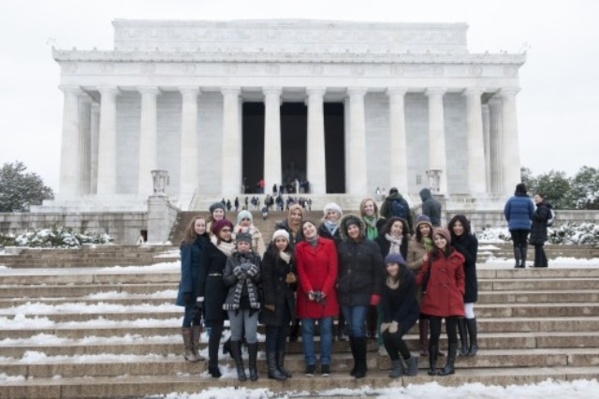
<svg viewBox="0 0 599 399">
<path fill-rule="evenodd" d="M 599 375 L 599 267 L 480 265 L 479 354 L 458 358 L 457 372 L 449 377 L 428 376 L 421 358 L 418 376 L 398 380 L 387 377 L 390 362 L 378 356 L 374 341 L 368 376 L 359 381 L 348 375 L 347 342 L 335 343 L 329 378 L 303 375 L 296 342 L 289 345 L 286 362 L 294 377 L 286 382 L 266 378 L 263 354 L 257 382 L 239 383 L 228 356 L 220 362 L 224 377 L 212 379 L 204 362 L 182 358 L 182 309 L 173 305 L 178 280 L 177 262 L 0 269 L 0 398 L 143 398 L 210 387 L 318 396 L 322 390 L 364 385 L 508 385 Z M 416 351 L 417 328 L 407 340 Z"/>
</svg>

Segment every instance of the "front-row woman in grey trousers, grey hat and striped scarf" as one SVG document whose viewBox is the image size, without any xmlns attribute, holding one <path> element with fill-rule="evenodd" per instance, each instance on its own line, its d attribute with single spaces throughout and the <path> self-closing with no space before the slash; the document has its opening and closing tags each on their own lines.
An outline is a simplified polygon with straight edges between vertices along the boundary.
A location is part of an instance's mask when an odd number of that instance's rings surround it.
<svg viewBox="0 0 599 399">
<path fill-rule="evenodd" d="M 227 299 L 223 309 L 231 324 L 231 356 L 235 360 L 237 379 L 247 380 L 241 357 L 241 340 L 248 345 L 250 380 L 258 379 L 258 312 L 260 311 L 261 283 L 260 257 L 252 250 L 252 236 L 239 233 L 235 249 L 227 257 L 223 282 L 227 287 Z"/>
</svg>

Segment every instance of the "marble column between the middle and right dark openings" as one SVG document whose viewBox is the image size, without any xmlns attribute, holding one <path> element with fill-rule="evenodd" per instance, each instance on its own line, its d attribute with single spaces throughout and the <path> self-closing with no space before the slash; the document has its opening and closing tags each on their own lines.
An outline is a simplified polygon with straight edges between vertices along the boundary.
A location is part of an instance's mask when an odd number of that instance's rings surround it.
<svg viewBox="0 0 599 399">
<path fill-rule="evenodd" d="M 307 180 L 314 194 L 326 194 L 327 175 L 324 140 L 324 87 L 308 87 Z"/>
</svg>

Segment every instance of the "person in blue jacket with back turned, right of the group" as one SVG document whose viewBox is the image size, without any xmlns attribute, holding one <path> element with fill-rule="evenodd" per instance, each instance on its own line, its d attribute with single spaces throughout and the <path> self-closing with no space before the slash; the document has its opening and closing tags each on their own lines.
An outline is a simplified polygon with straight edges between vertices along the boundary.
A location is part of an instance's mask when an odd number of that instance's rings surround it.
<svg viewBox="0 0 599 399">
<path fill-rule="evenodd" d="M 530 197 L 526 194 L 526 185 L 516 185 L 516 192 L 511 196 L 503 208 L 503 214 L 508 222 L 508 229 L 514 243 L 515 268 L 526 267 L 526 251 L 528 233 L 530 233 L 531 220 L 535 212 Z"/>
</svg>

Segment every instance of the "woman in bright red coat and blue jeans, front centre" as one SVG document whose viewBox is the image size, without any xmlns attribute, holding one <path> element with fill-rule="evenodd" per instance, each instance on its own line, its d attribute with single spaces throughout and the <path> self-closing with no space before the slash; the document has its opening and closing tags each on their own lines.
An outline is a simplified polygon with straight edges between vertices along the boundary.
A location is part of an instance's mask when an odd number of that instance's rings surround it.
<svg viewBox="0 0 599 399">
<path fill-rule="evenodd" d="M 333 317 L 339 304 L 335 283 L 337 280 L 337 248 L 332 240 L 318 236 L 317 227 L 310 221 L 302 223 L 304 241 L 295 246 L 295 260 L 299 285 L 297 288 L 297 316 L 302 321 L 302 346 L 306 361 L 306 375 L 314 376 L 314 324 L 320 326 L 321 374 L 331 372 L 333 348 Z"/>
</svg>

